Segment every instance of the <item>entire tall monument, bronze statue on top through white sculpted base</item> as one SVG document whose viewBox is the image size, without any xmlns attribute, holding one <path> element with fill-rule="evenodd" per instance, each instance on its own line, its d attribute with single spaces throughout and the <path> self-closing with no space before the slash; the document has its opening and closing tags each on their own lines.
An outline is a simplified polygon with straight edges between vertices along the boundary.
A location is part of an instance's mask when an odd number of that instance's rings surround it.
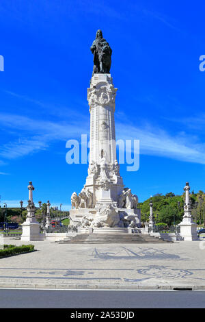
<svg viewBox="0 0 205 322">
<path fill-rule="evenodd" d="M 87 88 L 90 106 L 90 161 L 83 189 L 72 193 L 70 219 L 81 227 L 120 227 L 140 224 L 138 198 L 124 188 L 120 164 L 116 160 L 115 96 L 117 88 L 110 74 L 111 47 L 102 31 L 90 48 L 94 54 L 94 69 Z M 75 209 L 73 209 L 75 208 Z M 129 219 L 128 219 L 129 218 Z"/>
</svg>

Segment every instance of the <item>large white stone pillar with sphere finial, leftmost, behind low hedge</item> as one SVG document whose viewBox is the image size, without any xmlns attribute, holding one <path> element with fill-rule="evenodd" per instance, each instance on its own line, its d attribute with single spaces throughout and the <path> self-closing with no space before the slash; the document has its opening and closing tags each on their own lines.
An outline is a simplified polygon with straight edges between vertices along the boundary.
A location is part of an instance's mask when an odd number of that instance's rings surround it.
<svg viewBox="0 0 205 322">
<path fill-rule="evenodd" d="M 40 234 L 40 223 L 36 221 L 35 216 L 35 205 L 33 203 L 33 184 L 29 182 L 29 200 L 27 205 L 27 219 L 22 224 L 22 235 L 21 240 L 34 241 L 34 240 L 44 240 L 44 234 Z"/>
</svg>

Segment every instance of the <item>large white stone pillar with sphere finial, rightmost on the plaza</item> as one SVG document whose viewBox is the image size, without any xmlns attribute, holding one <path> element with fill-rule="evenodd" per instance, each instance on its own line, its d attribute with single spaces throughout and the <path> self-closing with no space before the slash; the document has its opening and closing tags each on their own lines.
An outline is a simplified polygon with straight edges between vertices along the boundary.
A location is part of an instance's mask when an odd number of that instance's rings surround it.
<svg viewBox="0 0 205 322">
<path fill-rule="evenodd" d="M 186 182 L 186 186 L 184 186 L 185 191 L 185 202 L 184 202 L 184 216 L 182 222 L 179 224 L 180 226 L 180 236 L 184 240 L 197 240 L 197 225 L 193 223 L 193 219 L 191 216 L 191 202 L 189 195 L 189 182 Z"/>
</svg>

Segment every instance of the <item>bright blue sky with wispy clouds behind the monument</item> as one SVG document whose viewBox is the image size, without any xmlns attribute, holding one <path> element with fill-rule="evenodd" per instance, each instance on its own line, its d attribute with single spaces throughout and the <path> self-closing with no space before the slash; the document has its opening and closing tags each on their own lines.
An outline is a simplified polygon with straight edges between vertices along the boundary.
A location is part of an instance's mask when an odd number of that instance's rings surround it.
<svg viewBox="0 0 205 322">
<path fill-rule="evenodd" d="M 180 2 L 180 3 L 179 3 Z M 87 164 L 66 163 L 66 141 L 88 134 L 90 46 L 96 30 L 113 49 L 116 138 L 140 140 L 139 171 L 120 173 L 143 201 L 204 190 L 204 2 L 1 1 L 1 204 L 50 199 L 69 209 Z"/>
</svg>

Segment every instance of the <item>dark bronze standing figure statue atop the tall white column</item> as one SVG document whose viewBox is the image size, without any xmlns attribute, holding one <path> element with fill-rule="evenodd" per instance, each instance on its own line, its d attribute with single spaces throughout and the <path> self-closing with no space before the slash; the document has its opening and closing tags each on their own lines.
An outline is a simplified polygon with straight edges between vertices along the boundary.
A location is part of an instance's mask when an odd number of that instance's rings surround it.
<svg viewBox="0 0 205 322">
<path fill-rule="evenodd" d="M 102 38 L 100 29 L 96 33 L 96 39 L 92 43 L 90 50 L 94 54 L 93 75 L 95 73 L 109 74 L 112 50 L 105 38 Z"/>
</svg>

